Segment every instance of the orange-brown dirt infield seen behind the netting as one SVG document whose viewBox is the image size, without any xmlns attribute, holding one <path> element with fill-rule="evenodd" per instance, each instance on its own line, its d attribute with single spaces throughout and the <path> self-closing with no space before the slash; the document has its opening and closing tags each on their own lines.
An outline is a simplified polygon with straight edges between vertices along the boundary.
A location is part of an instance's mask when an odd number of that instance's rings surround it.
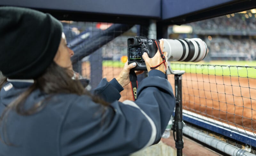
<svg viewBox="0 0 256 156">
<path fill-rule="evenodd" d="M 83 65 L 83 75 L 90 77 L 90 65 Z M 88 70 L 89 69 L 89 70 Z M 110 81 L 122 68 L 103 67 L 102 76 Z M 174 76 L 168 75 L 174 91 Z M 255 79 L 184 74 L 182 76 L 183 109 L 236 126 L 246 131 L 256 129 Z M 119 101 L 132 100 L 130 85 L 124 87 Z"/>
</svg>

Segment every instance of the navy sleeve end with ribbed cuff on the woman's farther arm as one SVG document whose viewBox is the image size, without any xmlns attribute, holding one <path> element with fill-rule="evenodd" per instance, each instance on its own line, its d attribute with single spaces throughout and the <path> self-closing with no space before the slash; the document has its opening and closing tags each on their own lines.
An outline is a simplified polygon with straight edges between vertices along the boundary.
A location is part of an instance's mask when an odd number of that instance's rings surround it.
<svg viewBox="0 0 256 156">
<path fill-rule="evenodd" d="M 91 93 L 93 95 L 100 96 L 105 101 L 112 103 L 115 100 L 119 100 L 121 95 L 120 92 L 124 90 L 124 88 L 116 81 L 116 79 L 112 79 L 110 82 L 107 81 L 106 78 L 102 79 L 97 86 L 97 88 L 92 89 Z"/>
</svg>

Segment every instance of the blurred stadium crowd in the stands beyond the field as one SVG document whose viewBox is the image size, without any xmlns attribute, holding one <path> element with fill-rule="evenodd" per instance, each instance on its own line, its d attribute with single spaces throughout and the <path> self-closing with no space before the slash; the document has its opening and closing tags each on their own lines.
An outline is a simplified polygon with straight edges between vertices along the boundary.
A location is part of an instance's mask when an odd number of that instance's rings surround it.
<svg viewBox="0 0 256 156">
<path fill-rule="evenodd" d="M 111 24 L 95 22 L 63 22 L 63 25 L 68 42 L 79 33 L 87 31 L 87 36 L 90 36 L 97 33 L 98 30 L 105 30 L 111 26 Z M 205 58 L 206 61 L 256 60 L 256 14 L 247 11 L 186 25 L 191 26 L 193 32 L 190 34 L 180 33 L 174 35 L 175 37 L 169 35 L 170 39 L 203 39 L 209 48 L 209 56 Z M 168 30 L 171 30 L 170 34 L 175 33 L 172 32 L 172 26 L 169 26 Z M 134 36 L 137 36 L 136 25 L 129 32 L 125 32 L 101 47 L 103 60 L 120 60 L 123 55 L 127 55 L 127 39 Z"/>
</svg>

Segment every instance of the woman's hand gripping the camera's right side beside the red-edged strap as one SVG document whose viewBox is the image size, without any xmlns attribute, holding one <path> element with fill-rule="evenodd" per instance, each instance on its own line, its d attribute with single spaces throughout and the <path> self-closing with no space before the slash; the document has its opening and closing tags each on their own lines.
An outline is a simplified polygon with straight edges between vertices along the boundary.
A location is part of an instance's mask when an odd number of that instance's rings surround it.
<svg viewBox="0 0 256 156">
<path fill-rule="evenodd" d="M 164 49 L 164 41 L 163 40 L 160 40 L 160 48 L 162 50 Z M 163 52 L 163 54 L 164 54 L 165 58 L 167 58 L 167 52 Z M 148 57 L 148 53 L 143 53 L 142 57 L 145 60 L 148 72 L 151 70 L 150 67 L 155 67 L 155 66 L 159 65 L 163 61 L 163 59 L 162 59 L 162 57 L 161 57 L 161 55 L 159 53 L 159 50 L 156 52 L 155 56 L 152 57 L 152 58 Z M 167 60 L 165 62 L 165 66 L 166 66 L 166 69 L 167 69 L 167 67 L 168 67 Z M 165 67 L 164 67 L 164 63 L 162 63 L 156 69 L 162 71 L 163 73 L 166 72 L 165 71 Z"/>
</svg>

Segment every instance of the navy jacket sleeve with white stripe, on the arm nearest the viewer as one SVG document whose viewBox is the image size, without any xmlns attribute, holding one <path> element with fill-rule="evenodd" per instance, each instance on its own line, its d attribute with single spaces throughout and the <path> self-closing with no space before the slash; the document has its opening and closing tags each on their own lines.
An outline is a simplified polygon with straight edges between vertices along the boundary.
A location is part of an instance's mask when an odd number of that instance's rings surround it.
<svg viewBox="0 0 256 156">
<path fill-rule="evenodd" d="M 60 133 L 62 155 L 128 155 L 159 140 L 175 106 L 172 87 L 163 77 L 160 71 L 149 72 L 136 102 L 103 107 L 87 96 L 77 98 Z"/>
</svg>

